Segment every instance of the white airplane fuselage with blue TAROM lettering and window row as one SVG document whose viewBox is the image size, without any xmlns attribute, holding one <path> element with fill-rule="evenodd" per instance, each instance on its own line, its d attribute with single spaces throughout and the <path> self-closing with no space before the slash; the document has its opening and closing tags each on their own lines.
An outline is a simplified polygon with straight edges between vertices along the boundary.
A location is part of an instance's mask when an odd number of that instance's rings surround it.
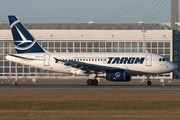
<svg viewBox="0 0 180 120">
<path fill-rule="evenodd" d="M 75 60 L 93 65 L 101 65 L 125 69 L 127 75 L 147 75 L 161 74 L 174 71 L 177 66 L 170 61 L 160 61 L 164 56 L 153 53 L 24 53 L 15 54 L 23 59 L 7 55 L 8 61 L 17 62 L 23 65 L 29 65 L 44 70 L 85 75 L 79 68 L 64 65 L 60 60 Z M 59 61 L 56 61 L 56 59 Z M 123 59 L 124 58 L 124 59 Z M 144 58 L 143 61 L 136 62 L 136 59 Z M 142 59 L 141 59 L 142 60 Z"/>
</svg>

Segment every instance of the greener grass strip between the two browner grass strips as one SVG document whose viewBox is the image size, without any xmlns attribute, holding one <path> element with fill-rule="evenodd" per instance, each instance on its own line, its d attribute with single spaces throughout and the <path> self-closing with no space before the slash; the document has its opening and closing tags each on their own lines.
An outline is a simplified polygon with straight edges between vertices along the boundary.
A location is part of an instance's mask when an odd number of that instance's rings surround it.
<svg viewBox="0 0 180 120">
<path fill-rule="evenodd" d="M 0 110 L 180 110 L 179 101 L 0 101 Z"/>
</svg>

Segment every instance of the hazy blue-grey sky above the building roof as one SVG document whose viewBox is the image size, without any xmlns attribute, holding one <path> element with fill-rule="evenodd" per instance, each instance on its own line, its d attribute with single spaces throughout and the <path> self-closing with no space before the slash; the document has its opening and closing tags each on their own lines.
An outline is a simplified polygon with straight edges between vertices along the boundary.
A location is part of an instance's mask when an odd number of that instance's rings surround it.
<svg viewBox="0 0 180 120">
<path fill-rule="evenodd" d="M 170 22 L 170 3 L 170 0 L 0 0 L 0 22 L 8 22 L 8 15 L 16 15 L 22 22 L 31 23 L 137 23 L 149 15 L 143 22 L 166 23 Z M 162 11 L 152 16 L 161 6 Z M 152 9 L 152 15 L 148 14 Z"/>
</svg>

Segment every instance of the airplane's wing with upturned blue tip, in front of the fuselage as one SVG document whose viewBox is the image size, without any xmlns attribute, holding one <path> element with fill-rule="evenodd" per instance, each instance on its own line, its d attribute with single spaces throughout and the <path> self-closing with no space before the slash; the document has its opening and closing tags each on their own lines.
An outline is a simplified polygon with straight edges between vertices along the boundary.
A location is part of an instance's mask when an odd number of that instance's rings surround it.
<svg viewBox="0 0 180 120">
<path fill-rule="evenodd" d="M 74 61 L 74 60 L 60 60 L 61 62 L 64 62 L 64 65 L 66 66 L 71 66 L 74 68 L 79 68 L 83 71 L 86 72 L 104 72 L 107 69 L 117 69 L 116 67 L 108 67 L 108 66 L 103 66 L 103 65 L 95 65 L 91 63 L 85 63 L 85 62 L 79 62 L 79 61 Z M 120 68 L 118 68 L 120 69 Z"/>
</svg>

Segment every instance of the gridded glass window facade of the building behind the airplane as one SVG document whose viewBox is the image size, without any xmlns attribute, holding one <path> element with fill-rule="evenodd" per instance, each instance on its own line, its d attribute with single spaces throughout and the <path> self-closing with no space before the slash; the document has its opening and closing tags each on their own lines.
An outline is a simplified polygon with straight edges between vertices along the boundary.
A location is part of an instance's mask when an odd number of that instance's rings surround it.
<svg viewBox="0 0 180 120">
<path fill-rule="evenodd" d="M 142 52 L 142 42 L 102 42 L 102 41 L 38 41 L 46 50 L 51 52 Z M 146 42 L 145 49 L 148 52 L 160 53 L 170 59 L 170 42 Z M 41 77 L 62 77 L 71 76 L 61 73 L 32 68 L 26 65 L 17 64 L 5 60 L 6 54 L 15 54 L 15 47 L 12 41 L 0 42 L 0 76 L 36 76 Z M 17 74 L 18 73 L 18 74 Z M 159 77 L 170 77 L 170 74 L 158 75 Z M 157 76 L 157 77 L 158 77 Z"/>
</svg>

